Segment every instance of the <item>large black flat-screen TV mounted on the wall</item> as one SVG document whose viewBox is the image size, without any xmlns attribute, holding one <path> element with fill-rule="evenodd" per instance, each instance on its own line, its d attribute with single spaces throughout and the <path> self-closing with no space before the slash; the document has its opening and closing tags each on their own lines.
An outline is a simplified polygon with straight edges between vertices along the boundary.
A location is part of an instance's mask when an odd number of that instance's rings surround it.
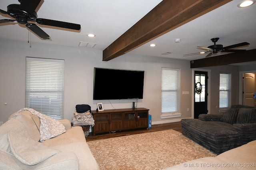
<svg viewBox="0 0 256 170">
<path fill-rule="evenodd" d="M 144 71 L 94 68 L 93 100 L 142 99 Z"/>
</svg>

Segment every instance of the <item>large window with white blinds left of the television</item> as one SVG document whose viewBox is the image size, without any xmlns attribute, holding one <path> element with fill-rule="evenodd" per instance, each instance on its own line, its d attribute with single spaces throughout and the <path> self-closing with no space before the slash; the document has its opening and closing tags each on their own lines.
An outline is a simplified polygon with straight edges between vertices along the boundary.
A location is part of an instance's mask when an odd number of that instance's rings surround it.
<svg viewBox="0 0 256 170">
<path fill-rule="evenodd" d="M 64 118 L 64 60 L 26 57 L 26 107 Z"/>
</svg>

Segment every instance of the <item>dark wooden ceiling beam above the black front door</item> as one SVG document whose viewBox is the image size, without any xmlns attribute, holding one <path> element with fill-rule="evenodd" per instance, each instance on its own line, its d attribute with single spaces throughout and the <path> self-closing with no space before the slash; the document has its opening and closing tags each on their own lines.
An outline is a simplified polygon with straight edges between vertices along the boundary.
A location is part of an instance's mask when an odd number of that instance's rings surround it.
<svg viewBox="0 0 256 170">
<path fill-rule="evenodd" d="M 219 66 L 234 63 L 244 63 L 256 61 L 256 49 L 247 50 L 244 53 L 230 53 L 226 55 L 218 55 L 204 59 L 190 61 L 190 68 L 200 68 L 208 66 Z"/>
</svg>

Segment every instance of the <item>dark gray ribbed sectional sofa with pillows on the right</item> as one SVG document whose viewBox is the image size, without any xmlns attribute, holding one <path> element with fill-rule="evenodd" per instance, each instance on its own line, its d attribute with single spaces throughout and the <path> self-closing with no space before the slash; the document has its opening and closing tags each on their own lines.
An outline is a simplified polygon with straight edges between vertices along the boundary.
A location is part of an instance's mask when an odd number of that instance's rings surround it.
<svg viewBox="0 0 256 170">
<path fill-rule="evenodd" d="M 256 107 L 232 105 L 224 114 L 182 119 L 182 134 L 220 154 L 256 140 Z"/>
</svg>

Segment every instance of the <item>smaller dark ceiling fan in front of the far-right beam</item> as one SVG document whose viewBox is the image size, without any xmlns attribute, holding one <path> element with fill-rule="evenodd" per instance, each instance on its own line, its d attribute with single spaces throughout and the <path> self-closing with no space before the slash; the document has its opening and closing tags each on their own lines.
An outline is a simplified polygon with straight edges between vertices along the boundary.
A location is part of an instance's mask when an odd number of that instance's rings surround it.
<svg viewBox="0 0 256 170">
<path fill-rule="evenodd" d="M 208 55 L 206 55 L 206 57 L 210 57 L 212 54 L 216 54 L 218 52 L 242 53 L 246 50 L 241 50 L 241 49 L 239 50 L 239 49 L 233 49 L 233 48 L 242 47 L 244 45 L 249 45 L 250 44 L 250 43 L 247 43 L 247 42 L 243 42 L 243 43 L 238 43 L 238 44 L 230 45 L 230 46 L 227 46 L 227 47 L 223 47 L 223 45 L 221 45 L 221 44 L 216 44 L 218 39 L 219 38 L 212 38 L 211 39 L 212 42 L 214 43 L 214 45 L 210 45 L 209 47 L 198 47 L 199 49 L 206 50 L 206 52 L 185 54 L 183 56 L 209 53 Z"/>
</svg>

